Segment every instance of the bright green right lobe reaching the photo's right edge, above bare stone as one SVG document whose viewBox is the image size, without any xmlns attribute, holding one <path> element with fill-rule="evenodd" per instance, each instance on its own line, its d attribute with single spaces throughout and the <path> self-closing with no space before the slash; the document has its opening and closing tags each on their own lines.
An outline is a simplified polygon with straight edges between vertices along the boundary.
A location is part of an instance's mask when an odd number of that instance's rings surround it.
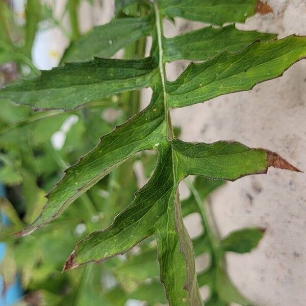
<svg viewBox="0 0 306 306">
<path fill-rule="evenodd" d="M 256 42 L 237 54 L 226 52 L 201 64 L 191 63 L 174 82 L 167 83 L 169 107 L 204 102 L 226 93 L 249 90 L 279 77 L 296 61 L 306 57 L 306 38 Z"/>
</svg>

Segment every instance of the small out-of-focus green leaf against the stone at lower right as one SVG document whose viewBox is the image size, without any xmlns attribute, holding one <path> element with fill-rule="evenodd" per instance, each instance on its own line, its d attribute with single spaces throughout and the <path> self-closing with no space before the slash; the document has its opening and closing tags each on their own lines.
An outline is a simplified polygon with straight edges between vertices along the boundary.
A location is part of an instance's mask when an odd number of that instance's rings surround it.
<svg viewBox="0 0 306 306">
<path fill-rule="evenodd" d="M 263 235 L 264 230 L 262 228 L 245 228 L 222 239 L 220 246 L 224 251 L 247 253 L 257 247 Z"/>
</svg>

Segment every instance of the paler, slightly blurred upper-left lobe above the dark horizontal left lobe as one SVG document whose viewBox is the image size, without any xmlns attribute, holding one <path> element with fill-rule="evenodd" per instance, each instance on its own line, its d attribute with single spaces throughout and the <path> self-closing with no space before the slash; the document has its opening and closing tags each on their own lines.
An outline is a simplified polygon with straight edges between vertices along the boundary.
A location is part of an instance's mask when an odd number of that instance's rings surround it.
<svg viewBox="0 0 306 306">
<path fill-rule="evenodd" d="M 71 42 L 61 62 L 86 61 L 96 56 L 109 58 L 124 46 L 149 35 L 152 21 L 151 16 L 118 18 L 95 27 L 77 41 Z"/>
</svg>

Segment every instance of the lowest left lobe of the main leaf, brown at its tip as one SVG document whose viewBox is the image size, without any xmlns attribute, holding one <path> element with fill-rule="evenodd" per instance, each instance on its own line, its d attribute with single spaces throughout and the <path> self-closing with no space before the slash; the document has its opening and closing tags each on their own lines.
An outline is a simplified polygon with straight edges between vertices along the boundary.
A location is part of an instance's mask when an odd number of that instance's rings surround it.
<svg viewBox="0 0 306 306">
<path fill-rule="evenodd" d="M 156 222 L 167 212 L 173 198 L 173 175 L 169 154 L 160 155 L 149 182 L 135 195 L 111 226 L 96 231 L 79 242 L 64 269 L 75 268 L 89 261 L 103 261 L 131 249 L 153 234 Z"/>
</svg>

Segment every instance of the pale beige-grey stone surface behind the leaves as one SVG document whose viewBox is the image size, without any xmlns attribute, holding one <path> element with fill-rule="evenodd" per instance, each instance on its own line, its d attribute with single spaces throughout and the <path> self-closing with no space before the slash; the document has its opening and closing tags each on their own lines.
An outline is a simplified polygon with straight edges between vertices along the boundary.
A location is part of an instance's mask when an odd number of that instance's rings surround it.
<svg viewBox="0 0 306 306">
<path fill-rule="evenodd" d="M 61 11 L 58 1 L 57 10 Z M 305 0 L 268 0 L 273 14 L 256 15 L 237 28 L 306 35 Z M 95 1 L 94 8 L 82 2 L 82 31 L 112 18 L 113 1 Z M 167 37 L 202 27 L 203 24 L 165 21 Z M 58 29 L 44 31 L 36 40 L 34 60 L 39 68 L 57 64 L 67 41 Z M 41 59 L 41 50 L 53 57 Z M 46 52 L 46 54 L 50 54 Z M 58 58 L 56 55 L 58 54 Z M 175 79 L 187 62 L 167 65 L 167 77 Z M 150 90 L 143 92 L 143 105 Z M 213 142 L 237 140 L 250 147 L 278 152 L 306 171 L 306 60 L 294 64 L 283 77 L 255 86 L 251 91 L 224 95 L 191 107 L 172 111 L 181 139 Z M 306 305 L 306 175 L 269 169 L 267 175 L 244 177 L 227 183 L 210 197 L 213 215 L 222 236 L 247 226 L 263 226 L 266 233 L 257 249 L 248 254 L 228 254 L 228 272 L 233 282 L 259 306 Z M 182 187 L 186 196 L 186 188 Z M 191 235 L 200 230 L 196 216 L 186 220 Z M 201 266 L 205 259 L 197 259 Z M 203 290 L 205 293 L 205 290 Z"/>
</svg>

